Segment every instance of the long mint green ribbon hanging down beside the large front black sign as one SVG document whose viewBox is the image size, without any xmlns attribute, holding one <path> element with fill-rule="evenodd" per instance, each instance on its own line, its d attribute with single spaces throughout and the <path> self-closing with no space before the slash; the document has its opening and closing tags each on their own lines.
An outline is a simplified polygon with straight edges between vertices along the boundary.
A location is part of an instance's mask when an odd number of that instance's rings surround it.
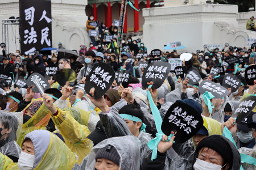
<svg viewBox="0 0 256 170">
<path fill-rule="evenodd" d="M 148 89 L 151 87 L 152 87 L 152 85 L 148 86 Z M 152 150 L 151 160 L 154 160 L 158 156 L 158 144 L 163 139 L 162 136 L 164 135 L 164 133 L 161 129 L 163 120 L 162 120 L 162 117 L 160 116 L 160 112 L 159 112 L 158 108 L 156 107 L 156 105 L 152 99 L 151 93 L 148 89 L 147 89 L 148 103 L 150 104 L 151 112 L 152 112 L 154 120 L 155 120 L 156 130 L 158 131 L 158 133 L 156 133 L 156 137 L 147 143 L 147 146 L 150 148 L 150 150 Z M 173 137 L 173 136 L 174 136 L 174 134 L 170 134 L 168 136 L 167 141 L 164 141 L 164 142 L 170 141 L 171 137 Z"/>
</svg>

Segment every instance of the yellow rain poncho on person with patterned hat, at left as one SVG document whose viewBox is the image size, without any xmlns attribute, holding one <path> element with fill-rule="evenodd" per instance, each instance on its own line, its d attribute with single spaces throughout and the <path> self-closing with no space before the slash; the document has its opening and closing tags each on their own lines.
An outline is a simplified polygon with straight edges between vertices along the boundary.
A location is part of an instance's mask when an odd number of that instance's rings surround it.
<svg viewBox="0 0 256 170">
<path fill-rule="evenodd" d="M 24 108 L 23 112 L 30 107 L 33 101 L 43 101 L 43 99 L 32 99 L 31 103 L 27 105 L 26 108 Z M 51 118 L 51 114 L 49 109 L 44 105 L 44 103 L 41 105 L 41 107 L 36 111 L 34 116 L 30 118 L 25 124 L 22 125 L 22 130 L 20 131 L 19 135 L 17 135 L 17 143 L 21 147 L 23 139 L 26 134 L 30 133 L 34 130 L 44 129 L 46 130 L 46 126 L 48 125 L 49 119 Z"/>
</svg>

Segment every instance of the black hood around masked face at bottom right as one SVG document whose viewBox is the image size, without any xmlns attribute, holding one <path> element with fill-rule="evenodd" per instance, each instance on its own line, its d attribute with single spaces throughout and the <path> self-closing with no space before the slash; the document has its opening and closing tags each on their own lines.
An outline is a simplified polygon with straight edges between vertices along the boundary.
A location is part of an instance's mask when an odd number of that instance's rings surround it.
<svg viewBox="0 0 256 170">
<path fill-rule="evenodd" d="M 225 160 L 226 163 L 233 163 L 233 152 L 232 148 L 229 146 L 229 143 L 225 139 L 221 138 L 220 135 L 211 135 L 209 137 L 201 140 L 196 147 L 196 154 L 198 156 L 199 151 L 203 147 L 209 147 L 212 150 L 218 152 Z"/>
</svg>

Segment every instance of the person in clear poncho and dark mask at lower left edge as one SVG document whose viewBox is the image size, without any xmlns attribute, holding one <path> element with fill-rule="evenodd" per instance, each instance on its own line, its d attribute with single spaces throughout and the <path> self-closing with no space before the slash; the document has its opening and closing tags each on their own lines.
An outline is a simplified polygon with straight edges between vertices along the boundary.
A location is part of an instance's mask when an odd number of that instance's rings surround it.
<svg viewBox="0 0 256 170">
<path fill-rule="evenodd" d="M 13 162 L 18 162 L 21 148 L 15 142 L 18 129 L 18 117 L 6 111 L 0 111 L 0 152 Z"/>
</svg>

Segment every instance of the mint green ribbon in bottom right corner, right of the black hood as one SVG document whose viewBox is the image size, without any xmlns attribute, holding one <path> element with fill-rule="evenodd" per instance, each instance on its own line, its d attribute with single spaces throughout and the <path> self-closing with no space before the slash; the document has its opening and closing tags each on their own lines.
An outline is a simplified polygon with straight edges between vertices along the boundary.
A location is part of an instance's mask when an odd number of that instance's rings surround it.
<svg viewBox="0 0 256 170">
<path fill-rule="evenodd" d="M 222 136 L 228 138 L 229 141 L 234 143 L 234 146 L 236 146 L 236 142 L 234 142 L 234 139 L 232 137 L 232 133 L 228 130 L 228 128 L 226 128 L 226 126 L 223 129 Z M 237 148 L 237 146 L 236 146 L 236 148 Z M 241 156 L 241 163 L 248 163 L 248 164 L 253 164 L 253 165 L 256 166 L 256 159 L 255 158 L 253 158 L 249 155 L 246 155 L 246 154 L 241 154 L 241 153 L 240 153 L 240 156 Z M 240 170 L 241 169 L 243 169 L 242 165 L 240 167 Z"/>
</svg>

